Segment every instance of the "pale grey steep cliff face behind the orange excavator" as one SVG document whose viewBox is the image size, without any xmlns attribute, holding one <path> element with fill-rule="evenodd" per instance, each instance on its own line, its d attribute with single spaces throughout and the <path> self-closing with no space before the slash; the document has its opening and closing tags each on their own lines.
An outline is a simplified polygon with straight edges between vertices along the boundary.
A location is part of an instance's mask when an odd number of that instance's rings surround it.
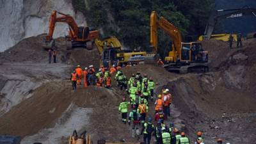
<svg viewBox="0 0 256 144">
<path fill-rule="evenodd" d="M 86 25 L 82 13 L 75 13 L 72 0 L 0 0 L 0 51 L 23 38 L 47 33 L 52 10 L 72 15 L 79 26 Z M 67 35 L 67 24 L 57 24 L 54 38 Z"/>
</svg>

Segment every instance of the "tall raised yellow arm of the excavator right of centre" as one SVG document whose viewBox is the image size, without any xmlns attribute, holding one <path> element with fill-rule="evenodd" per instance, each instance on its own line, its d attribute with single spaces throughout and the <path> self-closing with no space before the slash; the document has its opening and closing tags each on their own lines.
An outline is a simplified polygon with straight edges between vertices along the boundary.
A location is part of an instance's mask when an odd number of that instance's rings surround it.
<svg viewBox="0 0 256 144">
<path fill-rule="evenodd" d="M 179 29 L 164 19 L 164 17 L 160 17 L 157 20 L 157 14 L 153 11 L 150 15 L 150 44 L 154 47 L 154 52 L 157 52 L 157 28 L 163 29 L 172 38 L 174 45 L 171 51 L 172 54 L 169 52 L 169 56 L 177 54 L 174 56 L 174 61 L 176 61 L 176 58 L 180 58 L 181 54 L 182 37 Z"/>
</svg>

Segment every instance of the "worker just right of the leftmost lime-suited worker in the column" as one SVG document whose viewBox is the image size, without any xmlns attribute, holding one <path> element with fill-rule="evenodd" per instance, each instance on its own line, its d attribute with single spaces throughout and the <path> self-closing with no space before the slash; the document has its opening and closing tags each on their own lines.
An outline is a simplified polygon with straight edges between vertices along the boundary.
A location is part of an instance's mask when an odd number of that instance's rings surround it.
<svg viewBox="0 0 256 144">
<path fill-rule="evenodd" d="M 132 121 L 132 138 L 135 138 L 136 129 L 140 123 L 140 113 L 136 110 L 135 106 L 132 108 L 132 111 L 129 114 L 128 124 L 131 125 Z"/>
</svg>

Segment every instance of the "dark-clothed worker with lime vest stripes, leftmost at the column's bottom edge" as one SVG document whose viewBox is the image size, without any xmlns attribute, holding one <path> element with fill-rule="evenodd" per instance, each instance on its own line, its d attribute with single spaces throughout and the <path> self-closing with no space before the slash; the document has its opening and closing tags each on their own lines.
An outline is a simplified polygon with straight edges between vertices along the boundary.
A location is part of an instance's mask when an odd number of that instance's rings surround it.
<svg viewBox="0 0 256 144">
<path fill-rule="evenodd" d="M 144 144 L 150 144 L 152 132 L 154 132 L 154 125 L 152 124 L 152 118 L 149 117 L 148 122 L 143 124 L 143 128 L 141 130 Z"/>
</svg>

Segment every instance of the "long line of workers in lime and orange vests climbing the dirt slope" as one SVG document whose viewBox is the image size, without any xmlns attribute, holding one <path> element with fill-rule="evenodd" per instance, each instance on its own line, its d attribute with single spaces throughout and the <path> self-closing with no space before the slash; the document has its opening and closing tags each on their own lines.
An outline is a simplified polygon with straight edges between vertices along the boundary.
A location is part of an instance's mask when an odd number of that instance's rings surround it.
<svg viewBox="0 0 256 144">
<path fill-rule="evenodd" d="M 126 67 L 131 67 L 131 65 Z M 172 94 L 168 88 L 163 88 L 154 102 L 154 94 L 156 93 L 154 93 L 155 83 L 152 77 L 148 78 L 147 74 L 142 77 L 140 72 L 137 72 L 127 79 L 121 68 L 120 66 L 115 67 L 115 65 L 110 68 L 100 67 L 96 72 L 93 65 L 84 68 L 84 70 L 80 65 L 77 65 L 71 74 L 72 88 L 76 90 L 76 86 L 82 84 L 82 79 L 84 88 L 90 84 L 110 88 L 111 76 L 113 77 L 115 74 L 117 86 L 129 94 L 129 101 L 127 97 L 124 97 L 118 110 L 122 114 L 122 122 L 132 124 L 132 138 L 139 140 L 140 135 L 143 134 L 145 144 L 150 144 L 151 136 L 155 137 L 156 144 L 189 144 L 190 141 L 185 132 L 180 132 L 173 124 L 170 124 L 169 127 L 164 124 L 164 120 L 170 116 L 170 104 L 172 104 Z M 157 123 L 156 125 L 153 124 L 153 118 L 147 118 L 150 101 L 154 102 L 155 105 L 154 121 Z M 129 106 L 131 106 L 132 111 L 128 115 Z M 202 132 L 198 131 L 196 135 L 195 144 L 204 144 Z M 222 144 L 221 139 L 218 139 L 218 144 Z"/>
</svg>

